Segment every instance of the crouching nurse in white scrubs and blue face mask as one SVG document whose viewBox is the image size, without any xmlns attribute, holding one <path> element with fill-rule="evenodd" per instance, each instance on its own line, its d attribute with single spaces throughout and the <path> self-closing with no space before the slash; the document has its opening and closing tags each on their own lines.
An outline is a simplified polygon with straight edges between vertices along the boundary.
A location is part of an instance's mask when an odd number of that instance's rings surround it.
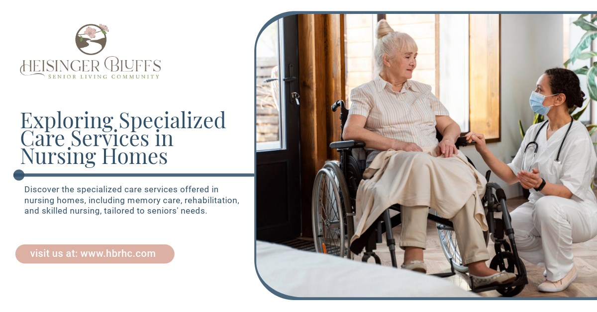
<svg viewBox="0 0 597 312">
<path fill-rule="evenodd" d="M 597 236 L 597 201 L 590 187 L 597 163 L 595 148 L 585 126 L 568 113 L 582 106 L 583 97 L 574 72 L 546 70 L 530 104 L 548 120 L 528 129 L 507 165 L 487 149 L 484 135 L 466 135 L 501 180 L 520 182 L 530 190 L 529 201 L 510 215 L 520 257 L 546 267 L 540 292 L 568 288 L 577 276 L 572 244 Z"/>
</svg>

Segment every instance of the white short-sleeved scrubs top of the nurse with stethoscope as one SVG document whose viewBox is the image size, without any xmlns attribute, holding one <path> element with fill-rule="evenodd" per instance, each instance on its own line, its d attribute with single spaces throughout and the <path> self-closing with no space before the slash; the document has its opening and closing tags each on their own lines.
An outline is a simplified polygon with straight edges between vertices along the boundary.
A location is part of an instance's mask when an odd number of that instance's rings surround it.
<svg viewBox="0 0 597 312">
<path fill-rule="evenodd" d="M 543 122 L 537 123 L 528 129 L 518 153 L 516 153 L 512 163 L 508 164 L 514 174 L 521 171 L 524 149 L 529 142 L 533 141 L 542 124 Z M 555 159 L 558 156 L 562 138 L 564 138 L 570 124 L 567 123 L 559 128 L 552 134 L 549 140 L 547 140 L 548 126 L 549 123 L 541 129 L 537 137 L 536 142 L 539 147 L 533 163 L 531 163 L 531 159 L 533 159 L 534 144 L 531 144 L 528 148 L 524 162 L 524 166 L 527 168 L 524 169 L 527 170 L 528 165 L 531 165 L 531 169 L 538 168 L 539 176 L 545 181 L 564 185 L 573 193 L 573 200 L 581 203 L 581 205 L 590 205 L 597 210 L 595 193 L 593 193 L 590 187 L 593 175 L 595 175 L 597 156 L 595 155 L 595 147 L 593 147 L 589 132 L 583 123 L 574 121 L 564 141 L 564 146 L 562 146 L 562 152 L 560 152 L 559 160 L 561 163 L 558 163 Z M 545 196 L 534 189 L 530 191 L 530 202 L 536 202 Z"/>
</svg>

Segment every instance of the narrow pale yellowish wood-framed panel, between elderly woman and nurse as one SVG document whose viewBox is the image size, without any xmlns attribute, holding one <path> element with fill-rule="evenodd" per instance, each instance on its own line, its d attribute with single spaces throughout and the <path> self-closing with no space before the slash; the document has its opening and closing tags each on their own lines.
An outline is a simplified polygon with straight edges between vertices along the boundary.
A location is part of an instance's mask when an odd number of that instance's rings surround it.
<svg viewBox="0 0 597 312">
<path fill-rule="evenodd" d="M 470 131 L 500 140 L 500 14 L 469 15 Z"/>
</svg>

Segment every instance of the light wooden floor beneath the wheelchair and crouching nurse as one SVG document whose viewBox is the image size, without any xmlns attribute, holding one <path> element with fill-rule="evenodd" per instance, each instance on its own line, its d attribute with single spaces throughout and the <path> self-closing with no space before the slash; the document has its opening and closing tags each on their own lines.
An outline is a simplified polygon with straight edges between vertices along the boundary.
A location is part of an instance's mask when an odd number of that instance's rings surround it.
<svg viewBox="0 0 597 312">
<path fill-rule="evenodd" d="M 527 202 L 522 197 L 507 200 L 509 211 L 513 211 L 514 208 L 518 207 L 522 203 Z M 392 233 L 396 241 L 400 236 L 401 225 L 393 228 Z M 385 235 L 383 236 L 384 242 L 377 244 L 376 254 L 381 258 L 382 265 L 391 266 L 389 250 L 385 243 Z M 493 242 L 489 242 L 489 252 L 491 258 L 496 254 L 493 248 Z M 404 260 L 404 251 L 400 248 L 396 248 L 396 258 L 398 264 L 401 264 Z M 574 264 L 578 271 L 578 277 L 576 280 L 562 292 L 556 293 L 543 293 L 537 291 L 537 286 L 543 283 L 545 277 L 543 276 L 544 267 L 538 267 L 530 262 L 523 261 L 527 268 L 528 285 L 525 286 L 524 291 L 518 295 L 518 297 L 594 297 L 597 296 L 597 237 L 589 242 L 577 243 L 573 245 L 574 252 Z M 361 261 L 359 256 L 355 257 L 356 261 Z M 427 249 L 424 252 L 424 261 L 427 264 L 427 273 L 442 273 L 450 271 L 450 262 L 446 260 L 444 252 L 441 249 L 439 242 L 438 231 L 436 230 L 435 223 L 428 221 L 427 223 Z M 373 263 L 373 259 L 369 262 Z M 489 265 L 490 261 L 487 261 Z M 450 280 L 462 289 L 470 290 L 468 284 L 468 277 L 466 274 L 457 273 L 455 276 L 446 277 L 445 279 Z M 497 291 L 483 292 L 479 294 L 481 296 L 501 296 Z"/>
</svg>

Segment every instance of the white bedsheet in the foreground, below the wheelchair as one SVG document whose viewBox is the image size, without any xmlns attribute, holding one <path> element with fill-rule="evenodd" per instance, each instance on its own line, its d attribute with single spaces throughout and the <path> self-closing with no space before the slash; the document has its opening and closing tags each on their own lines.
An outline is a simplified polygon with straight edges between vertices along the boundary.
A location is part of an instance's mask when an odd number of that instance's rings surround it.
<svg viewBox="0 0 597 312">
<path fill-rule="evenodd" d="M 259 240 L 257 271 L 271 288 L 296 297 L 476 296 L 439 277 Z"/>
</svg>

